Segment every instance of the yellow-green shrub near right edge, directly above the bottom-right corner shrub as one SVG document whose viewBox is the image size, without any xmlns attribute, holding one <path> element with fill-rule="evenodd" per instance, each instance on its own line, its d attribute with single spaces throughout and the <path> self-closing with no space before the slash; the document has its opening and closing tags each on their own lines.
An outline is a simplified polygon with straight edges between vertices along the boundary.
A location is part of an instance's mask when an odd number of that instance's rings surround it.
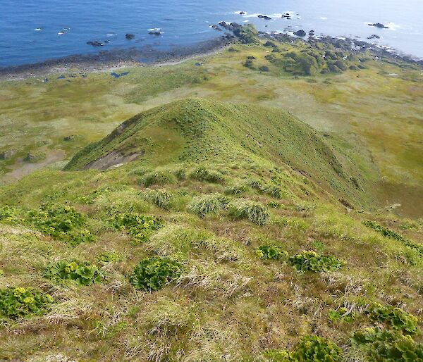
<svg viewBox="0 0 423 362">
<path fill-rule="evenodd" d="M 396 330 L 402 330 L 407 334 L 415 334 L 419 320 L 410 313 L 401 308 L 393 306 L 382 306 L 375 303 L 369 307 L 366 314 L 372 320 L 378 320 L 381 323 L 388 323 Z"/>
</svg>

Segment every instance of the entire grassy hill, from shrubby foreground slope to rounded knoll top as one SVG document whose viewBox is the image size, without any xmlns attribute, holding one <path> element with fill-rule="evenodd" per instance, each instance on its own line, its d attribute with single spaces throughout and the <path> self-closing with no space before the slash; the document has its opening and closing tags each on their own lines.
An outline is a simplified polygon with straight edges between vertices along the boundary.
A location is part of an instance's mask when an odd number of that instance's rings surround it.
<svg viewBox="0 0 423 362">
<path fill-rule="evenodd" d="M 1 187 L 0 359 L 420 361 L 423 224 L 352 209 L 356 157 L 188 99 Z"/>
</svg>

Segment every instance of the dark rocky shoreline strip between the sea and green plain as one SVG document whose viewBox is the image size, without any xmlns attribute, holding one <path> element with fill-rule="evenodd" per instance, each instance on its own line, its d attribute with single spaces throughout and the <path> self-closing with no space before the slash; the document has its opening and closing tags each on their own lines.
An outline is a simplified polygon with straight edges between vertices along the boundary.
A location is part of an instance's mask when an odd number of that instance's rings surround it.
<svg viewBox="0 0 423 362">
<path fill-rule="evenodd" d="M 202 56 L 233 44 L 234 41 L 243 41 L 243 35 L 239 30 L 243 27 L 238 23 L 219 23 L 219 26 L 226 30 L 226 34 L 215 39 L 209 39 L 192 46 L 178 46 L 167 51 L 154 49 L 153 46 L 142 46 L 141 48 L 114 49 L 100 51 L 99 54 L 77 54 L 58 59 L 51 59 L 40 63 L 17 65 L 0 68 L 0 81 L 23 80 L 28 77 L 44 77 L 52 73 L 83 72 L 95 73 L 118 68 L 160 65 L 166 63 L 178 63 L 195 56 Z M 213 25 L 218 30 L 218 25 Z M 219 30 L 221 30 L 219 28 Z M 306 35 L 308 37 L 306 38 Z M 384 46 L 377 46 L 361 39 L 348 37 L 316 37 L 314 30 L 305 32 L 298 30 L 294 36 L 281 32 L 258 32 L 262 39 L 276 39 L 280 42 L 324 42 L 335 46 L 338 49 L 360 51 L 371 51 L 379 58 L 391 58 L 405 63 L 420 65 L 423 67 L 423 60 L 415 59 L 412 56 L 400 54 L 393 49 Z"/>
</svg>

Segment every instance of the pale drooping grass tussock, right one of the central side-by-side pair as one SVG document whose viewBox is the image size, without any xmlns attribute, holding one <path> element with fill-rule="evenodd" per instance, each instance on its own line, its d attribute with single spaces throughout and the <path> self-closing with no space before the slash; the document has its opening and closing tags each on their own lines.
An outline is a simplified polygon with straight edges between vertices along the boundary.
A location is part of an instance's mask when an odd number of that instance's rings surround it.
<svg viewBox="0 0 423 362">
<path fill-rule="evenodd" d="M 234 200 L 228 204 L 229 215 L 235 219 L 247 219 L 257 225 L 265 225 L 270 219 L 269 208 L 251 200 Z"/>
</svg>

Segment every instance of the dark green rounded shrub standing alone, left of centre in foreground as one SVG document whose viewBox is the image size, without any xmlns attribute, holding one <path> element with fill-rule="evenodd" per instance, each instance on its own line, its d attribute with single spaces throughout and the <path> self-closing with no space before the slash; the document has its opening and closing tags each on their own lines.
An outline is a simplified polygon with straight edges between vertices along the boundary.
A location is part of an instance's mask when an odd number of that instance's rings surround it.
<svg viewBox="0 0 423 362">
<path fill-rule="evenodd" d="M 129 276 L 135 289 L 145 291 L 159 290 L 176 280 L 182 273 L 182 266 L 169 258 L 146 258 L 142 260 Z"/>
</svg>

